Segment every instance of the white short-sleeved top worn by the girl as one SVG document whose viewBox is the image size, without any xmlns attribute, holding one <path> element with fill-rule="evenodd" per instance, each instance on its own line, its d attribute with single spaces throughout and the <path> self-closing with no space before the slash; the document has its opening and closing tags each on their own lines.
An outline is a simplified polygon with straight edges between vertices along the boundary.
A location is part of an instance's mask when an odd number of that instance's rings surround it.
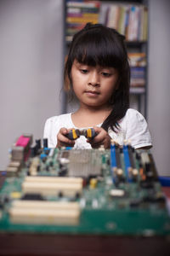
<svg viewBox="0 0 170 256">
<path fill-rule="evenodd" d="M 152 145 L 148 125 L 144 119 L 144 116 L 137 110 L 128 108 L 127 113 L 118 123 L 120 125 L 119 131 L 116 133 L 109 129 L 108 133 L 110 137 L 120 145 L 123 145 L 125 140 L 130 142 L 133 148 L 141 148 Z M 101 125 L 102 124 L 96 126 Z M 44 127 L 43 137 L 48 138 L 49 148 L 56 147 L 57 134 L 62 127 L 68 129 L 79 129 L 73 124 L 71 113 L 64 113 L 47 119 Z M 84 127 L 81 129 L 87 128 L 90 127 Z M 86 140 L 87 138 L 84 136 L 77 138 L 74 148 L 92 148 L 91 145 L 86 142 Z"/>
</svg>

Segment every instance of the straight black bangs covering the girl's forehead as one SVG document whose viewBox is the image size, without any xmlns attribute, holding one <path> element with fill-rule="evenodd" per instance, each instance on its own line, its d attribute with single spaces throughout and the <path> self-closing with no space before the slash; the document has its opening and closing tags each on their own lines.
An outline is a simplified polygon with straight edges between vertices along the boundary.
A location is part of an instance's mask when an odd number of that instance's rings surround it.
<svg viewBox="0 0 170 256">
<path fill-rule="evenodd" d="M 88 32 L 77 40 L 72 57 L 88 66 L 114 67 L 121 72 L 124 54 L 119 44 L 111 36 L 104 37 L 97 31 Z"/>
</svg>

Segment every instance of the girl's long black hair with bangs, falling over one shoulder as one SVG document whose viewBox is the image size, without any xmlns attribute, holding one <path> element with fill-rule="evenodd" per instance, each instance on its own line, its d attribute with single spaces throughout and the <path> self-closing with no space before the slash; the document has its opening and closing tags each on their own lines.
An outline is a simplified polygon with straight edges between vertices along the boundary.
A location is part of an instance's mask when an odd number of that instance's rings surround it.
<svg viewBox="0 0 170 256">
<path fill-rule="evenodd" d="M 95 67 L 114 67 L 119 74 L 118 88 L 110 99 L 112 111 L 101 127 L 108 131 L 119 128 L 118 121 L 129 108 L 130 67 L 127 58 L 125 37 L 115 29 L 101 24 L 88 23 L 72 39 L 68 58 L 65 62 L 65 83 L 71 84 L 73 61 Z"/>
</svg>

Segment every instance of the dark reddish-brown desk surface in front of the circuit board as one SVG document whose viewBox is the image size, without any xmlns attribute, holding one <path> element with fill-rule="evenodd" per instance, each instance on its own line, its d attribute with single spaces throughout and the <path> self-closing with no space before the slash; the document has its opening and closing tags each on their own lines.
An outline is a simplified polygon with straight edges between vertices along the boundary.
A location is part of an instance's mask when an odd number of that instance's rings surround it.
<svg viewBox="0 0 170 256">
<path fill-rule="evenodd" d="M 0 235 L 0 255 L 169 256 L 163 237 Z"/>
</svg>

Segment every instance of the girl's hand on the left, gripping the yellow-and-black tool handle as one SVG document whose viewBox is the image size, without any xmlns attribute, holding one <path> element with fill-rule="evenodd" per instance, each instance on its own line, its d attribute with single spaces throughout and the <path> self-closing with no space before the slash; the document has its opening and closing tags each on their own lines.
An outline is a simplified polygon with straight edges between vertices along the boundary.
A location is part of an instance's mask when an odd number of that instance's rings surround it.
<svg viewBox="0 0 170 256">
<path fill-rule="evenodd" d="M 61 128 L 59 130 L 59 133 L 57 135 L 57 146 L 56 148 L 61 148 L 61 147 L 73 147 L 75 144 L 75 141 L 70 140 L 68 137 L 65 135 L 71 131 L 71 129 L 66 129 L 65 127 Z"/>
</svg>

